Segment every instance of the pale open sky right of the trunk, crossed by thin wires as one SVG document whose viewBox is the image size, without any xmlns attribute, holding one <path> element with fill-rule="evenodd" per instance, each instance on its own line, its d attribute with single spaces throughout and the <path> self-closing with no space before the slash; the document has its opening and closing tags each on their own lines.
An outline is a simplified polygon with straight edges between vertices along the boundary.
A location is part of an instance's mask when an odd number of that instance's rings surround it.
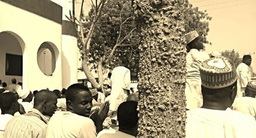
<svg viewBox="0 0 256 138">
<path fill-rule="evenodd" d="M 255 0 L 189 0 L 200 11 L 207 10 L 209 21 L 207 53 L 212 51 L 237 51 L 242 57 L 252 54 L 253 71 L 256 72 L 256 1 Z"/>
</svg>

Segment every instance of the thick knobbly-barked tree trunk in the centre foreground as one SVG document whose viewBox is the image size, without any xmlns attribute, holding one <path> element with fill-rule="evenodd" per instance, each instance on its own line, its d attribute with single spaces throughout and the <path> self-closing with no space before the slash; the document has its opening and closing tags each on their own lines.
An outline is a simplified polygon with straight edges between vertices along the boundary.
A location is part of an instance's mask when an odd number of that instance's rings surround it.
<svg viewBox="0 0 256 138">
<path fill-rule="evenodd" d="M 140 30 L 137 137 L 185 137 L 185 39 L 180 0 L 134 0 Z"/>
</svg>

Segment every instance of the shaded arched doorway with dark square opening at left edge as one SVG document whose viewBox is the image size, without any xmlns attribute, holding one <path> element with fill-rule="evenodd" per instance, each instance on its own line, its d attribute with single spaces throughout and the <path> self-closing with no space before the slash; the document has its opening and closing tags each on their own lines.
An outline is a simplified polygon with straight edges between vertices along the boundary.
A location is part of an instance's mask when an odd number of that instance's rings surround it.
<svg viewBox="0 0 256 138">
<path fill-rule="evenodd" d="M 0 79 L 7 84 L 15 78 L 23 82 L 25 42 L 14 32 L 0 32 Z"/>
</svg>

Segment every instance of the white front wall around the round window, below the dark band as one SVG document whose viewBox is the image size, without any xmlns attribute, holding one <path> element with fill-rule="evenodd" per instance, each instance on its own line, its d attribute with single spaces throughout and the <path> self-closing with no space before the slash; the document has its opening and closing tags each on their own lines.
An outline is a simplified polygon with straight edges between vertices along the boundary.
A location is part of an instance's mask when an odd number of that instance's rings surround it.
<svg viewBox="0 0 256 138">
<path fill-rule="evenodd" d="M 0 1 L 0 32 L 11 31 L 25 43 L 23 47 L 23 87 L 30 90 L 62 88 L 61 24 Z M 43 42 L 56 47 L 56 68 L 53 76 L 44 75 L 37 65 L 37 51 Z"/>
</svg>

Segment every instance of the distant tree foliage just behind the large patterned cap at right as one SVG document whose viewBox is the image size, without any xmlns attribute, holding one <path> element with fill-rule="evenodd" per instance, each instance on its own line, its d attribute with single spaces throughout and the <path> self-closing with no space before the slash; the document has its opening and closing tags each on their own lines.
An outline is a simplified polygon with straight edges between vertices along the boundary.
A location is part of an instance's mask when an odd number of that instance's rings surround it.
<svg viewBox="0 0 256 138">
<path fill-rule="evenodd" d="M 239 53 L 234 50 L 226 50 L 221 52 L 221 54 L 222 56 L 231 59 L 236 65 L 236 68 L 240 63 L 242 63 L 242 58 L 240 58 Z"/>
</svg>

